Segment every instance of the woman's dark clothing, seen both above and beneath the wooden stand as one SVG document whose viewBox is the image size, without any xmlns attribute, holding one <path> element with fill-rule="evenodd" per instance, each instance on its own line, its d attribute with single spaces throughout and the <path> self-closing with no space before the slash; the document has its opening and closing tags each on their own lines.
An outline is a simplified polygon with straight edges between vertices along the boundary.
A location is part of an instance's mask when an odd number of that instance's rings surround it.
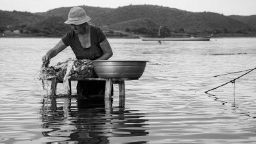
<svg viewBox="0 0 256 144">
<path fill-rule="evenodd" d="M 90 27 L 91 46 L 83 48 L 79 41 L 77 33 L 69 31 L 64 37 L 62 42 L 66 46 L 70 46 L 78 60 L 96 60 L 103 55 L 100 43 L 106 39 L 104 33 L 98 27 Z M 78 81 L 77 94 L 82 96 L 104 94 L 105 81 Z"/>
</svg>

